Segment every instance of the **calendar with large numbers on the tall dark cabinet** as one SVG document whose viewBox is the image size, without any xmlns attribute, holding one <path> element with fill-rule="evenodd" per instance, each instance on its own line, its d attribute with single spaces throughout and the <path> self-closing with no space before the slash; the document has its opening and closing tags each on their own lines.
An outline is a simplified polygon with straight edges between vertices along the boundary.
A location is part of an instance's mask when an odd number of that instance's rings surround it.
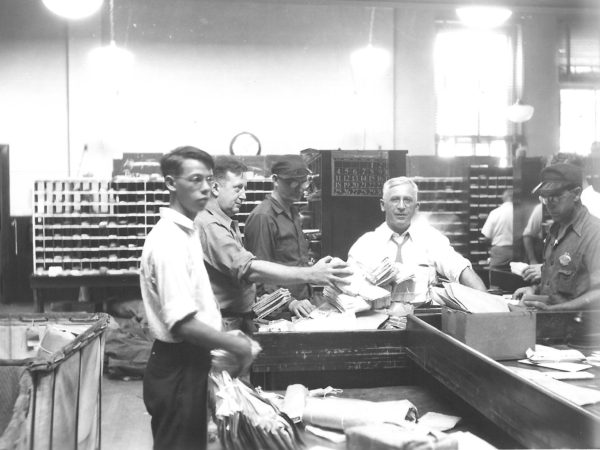
<svg viewBox="0 0 600 450">
<path fill-rule="evenodd" d="M 381 188 L 388 179 L 386 151 L 343 151 L 332 155 L 331 193 L 336 197 L 381 197 Z"/>
</svg>

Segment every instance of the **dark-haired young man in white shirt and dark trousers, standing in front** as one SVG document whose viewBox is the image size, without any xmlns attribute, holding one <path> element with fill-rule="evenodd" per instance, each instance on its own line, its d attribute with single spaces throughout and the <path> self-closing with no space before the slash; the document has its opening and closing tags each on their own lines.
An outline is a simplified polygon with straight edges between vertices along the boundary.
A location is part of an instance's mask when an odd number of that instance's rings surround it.
<svg viewBox="0 0 600 450">
<path fill-rule="evenodd" d="M 168 208 L 148 234 L 140 287 L 155 338 L 144 374 L 144 403 L 152 416 L 155 449 L 206 448 L 210 351 L 222 348 L 240 370 L 252 362 L 248 340 L 221 331 L 221 314 L 204 267 L 194 226 L 212 184 L 212 157 L 180 147 L 161 158 Z M 236 376 L 236 374 L 232 374 Z"/>
</svg>

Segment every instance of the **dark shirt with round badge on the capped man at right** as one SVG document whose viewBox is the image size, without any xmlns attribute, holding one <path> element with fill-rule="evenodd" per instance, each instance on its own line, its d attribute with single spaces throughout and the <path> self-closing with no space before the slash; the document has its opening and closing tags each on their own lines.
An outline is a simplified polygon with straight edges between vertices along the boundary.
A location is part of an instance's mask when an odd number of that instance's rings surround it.
<svg viewBox="0 0 600 450">
<path fill-rule="evenodd" d="M 600 219 L 578 205 L 559 233 L 552 224 L 544 241 L 544 265 L 539 293 L 551 303 L 564 303 L 600 287 Z"/>
</svg>

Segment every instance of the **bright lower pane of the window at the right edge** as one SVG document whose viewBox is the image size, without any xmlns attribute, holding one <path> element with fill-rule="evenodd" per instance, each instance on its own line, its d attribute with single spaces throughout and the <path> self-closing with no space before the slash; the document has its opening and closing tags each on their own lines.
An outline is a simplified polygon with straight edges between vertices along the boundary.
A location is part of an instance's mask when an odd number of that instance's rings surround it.
<svg viewBox="0 0 600 450">
<path fill-rule="evenodd" d="M 600 89 L 560 90 L 560 151 L 590 153 L 600 141 Z"/>
</svg>

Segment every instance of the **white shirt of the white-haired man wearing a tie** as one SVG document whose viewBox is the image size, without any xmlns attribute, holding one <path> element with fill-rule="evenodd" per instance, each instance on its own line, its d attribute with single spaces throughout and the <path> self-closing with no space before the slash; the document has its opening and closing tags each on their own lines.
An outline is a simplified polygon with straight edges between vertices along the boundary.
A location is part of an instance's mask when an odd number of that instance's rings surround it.
<svg viewBox="0 0 600 450">
<path fill-rule="evenodd" d="M 402 245 L 403 264 L 425 264 L 435 267 L 436 271 L 451 281 L 458 282 L 460 274 L 471 267 L 468 259 L 458 254 L 450 241 L 424 220 L 413 219 L 408 230 L 399 236 L 382 223 L 374 231 L 363 234 L 348 252 L 348 262 L 362 268 L 377 266 L 384 258 L 396 260 L 398 244 L 405 234 L 408 239 Z"/>
</svg>

